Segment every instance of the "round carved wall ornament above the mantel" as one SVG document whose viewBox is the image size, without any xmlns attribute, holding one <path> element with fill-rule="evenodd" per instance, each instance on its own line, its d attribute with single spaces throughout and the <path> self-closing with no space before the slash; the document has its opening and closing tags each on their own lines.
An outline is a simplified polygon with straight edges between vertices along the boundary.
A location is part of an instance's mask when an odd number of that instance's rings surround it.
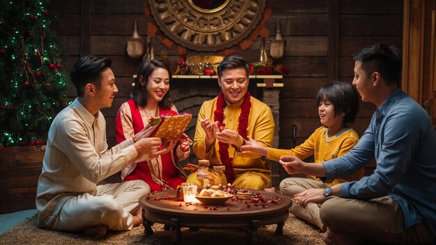
<svg viewBox="0 0 436 245">
<path fill-rule="evenodd" d="M 221 0 L 219 6 L 206 8 L 193 0 L 148 3 L 159 29 L 173 42 L 196 51 L 215 52 L 247 38 L 262 18 L 266 0 Z"/>
</svg>

